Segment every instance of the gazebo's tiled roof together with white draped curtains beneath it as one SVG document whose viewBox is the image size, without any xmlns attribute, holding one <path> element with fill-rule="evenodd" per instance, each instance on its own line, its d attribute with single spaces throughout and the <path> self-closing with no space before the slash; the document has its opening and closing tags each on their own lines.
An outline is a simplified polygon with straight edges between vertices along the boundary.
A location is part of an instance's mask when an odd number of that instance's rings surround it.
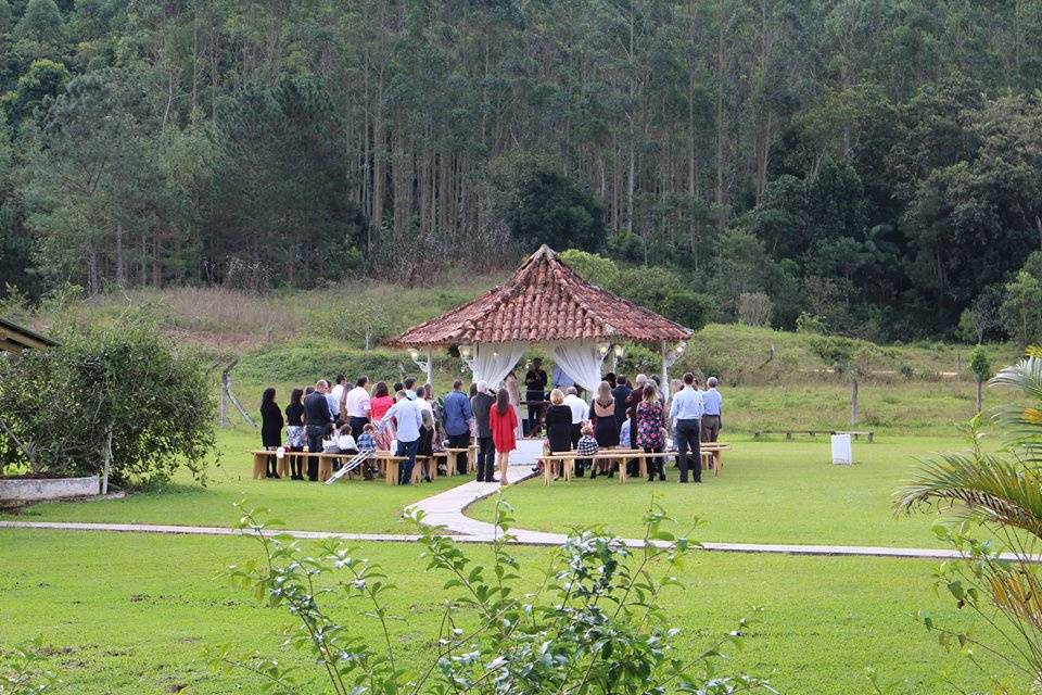
<svg viewBox="0 0 1042 695">
<path fill-rule="evenodd" d="M 691 330 L 579 277 L 543 245 L 490 292 L 398 336 L 431 379 L 431 351 L 456 345 L 474 381 L 498 384 L 530 345 L 546 346 L 577 384 L 593 392 L 605 357 L 626 342 L 662 354 L 663 384 Z M 425 354 L 425 359 L 421 355 Z"/>
</svg>

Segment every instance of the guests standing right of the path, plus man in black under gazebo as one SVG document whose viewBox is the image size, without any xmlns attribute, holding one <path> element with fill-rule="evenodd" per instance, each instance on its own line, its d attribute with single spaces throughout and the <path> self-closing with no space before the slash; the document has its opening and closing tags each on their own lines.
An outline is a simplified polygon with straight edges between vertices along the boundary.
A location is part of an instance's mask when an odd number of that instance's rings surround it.
<svg viewBox="0 0 1042 695">
<path fill-rule="evenodd" d="M 597 388 L 593 403 L 579 396 L 575 386 L 557 383 L 544 406 L 548 379 L 539 361 L 525 375 L 530 433 L 546 428 L 545 451 L 559 454 L 574 451 L 592 457 L 605 450 L 637 448 L 648 454 L 663 453 L 672 437 L 676 447 L 679 481 L 701 482 L 701 442 L 715 442 L 721 428 L 723 399 L 717 380 L 710 377 L 701 390 L 695 375 L 687 372 L 665 392 L 658 377 L 637 375 L 633 387 L 625 376 L 608 374 Z M 561 388 L 563 386 L 563 388 Z M 614 475 L 614 463 L 593 465 L 589 458 L 576 459 L 576 475 L 589 467 L 590 477 Z M 635 469 L 633 462 L 628 464 Z M 665 480 L 664 457 L 650 459 L 648 480 Z"/>
</svg>

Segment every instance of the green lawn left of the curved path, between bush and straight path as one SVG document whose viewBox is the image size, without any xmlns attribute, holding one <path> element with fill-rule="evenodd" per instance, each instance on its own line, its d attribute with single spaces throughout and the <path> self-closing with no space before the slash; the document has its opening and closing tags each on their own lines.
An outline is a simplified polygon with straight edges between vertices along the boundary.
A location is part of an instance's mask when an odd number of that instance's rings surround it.
<svg viewBox="0 0 1042 695">
<path fill-rule="evenodd" d="M 268 507 L 289 528 L 358 533 L 403 532 L 402 511 L 408 505 L 470 480 L 456 476 L 433 483 L 385 485 L 382 480 L 351 480 L 333 485 L 295 480 L 254 480 L 253 459 L 246 453 L 259 435 L 242 430 L 218 433 L 220 462 L 208 470 L 205 488 L 185 473 L 174 484 L 123 500 L 39 504 L 0 518 L 23 521 L 94 521 L 112 523 L 173 523 L 228 526 L 232 505 L 247 498 Z"/>
</svg>

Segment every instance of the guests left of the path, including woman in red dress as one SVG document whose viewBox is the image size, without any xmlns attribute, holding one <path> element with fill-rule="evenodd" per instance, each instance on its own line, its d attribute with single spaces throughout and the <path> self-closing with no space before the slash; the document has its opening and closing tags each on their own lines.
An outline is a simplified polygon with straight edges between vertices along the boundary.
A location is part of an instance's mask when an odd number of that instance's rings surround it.
<svg viewBox="0 0 1042 695">
<path fill-rule="evenodd" d="M 514 383 L 516 383 L 514 379 Z M 478 441 L 478 481 L 497 482 L 494 466 L 498 465 L 500 484 L 507 484 L 510 452 L 517 448 L 520 410 L 517 397 L 507 388 L 492 391 L 480 381 L 463 393 L 462 381 L 440 402 L 428 383 L 417 388 L 416 379 L 405 379 L 389 388 L 385 381 L 370 384 L 368 377 L 358 377 L 354 387 L 343 375 L 334 386 L 322 379 L 314 387 L 294 389 L 283 412 L 276 403 L 276 390 L 265 389 L 260 397 L 260 440 L 269 451 L 288 453 L 322 452 L 358 454 L 390 452 L 406 460 L 399 467 L 401 484 L 410 484 L 417 457 L 432 457 L 437 452 L 455 450 L 456 469 L 467 472 L 468 451 Z M 514 388 L 517 396 L 517 388 Z M 283 438 L 284 432 L 284 438 Z M 318 462 L 291 456 L 293 480 L 318 480 Z M 430 462 L 431 458 L 428 458 Z M 424 465 L 433 465 L 425 463 Z M 366 465 L 366 478 L 373 475 Z M 423 471 L 431 480 L 431 471 Z M 276 460 L 268 462 L 268 478 L 279 478 Z"/>
</svg>

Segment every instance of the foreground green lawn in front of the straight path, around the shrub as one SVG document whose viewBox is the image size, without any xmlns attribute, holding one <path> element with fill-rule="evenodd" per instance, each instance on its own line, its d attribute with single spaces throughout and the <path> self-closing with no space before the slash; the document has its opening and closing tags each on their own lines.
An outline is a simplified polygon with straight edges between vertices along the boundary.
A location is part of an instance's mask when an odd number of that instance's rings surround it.
<svg viewBox="0 0 1042 695">
<path fill-rule="evenodd" d="M 260 693 L 250 677 L 206 670 L 204 646 L 224 643 L 304 666 L 279 646 L 289 623 L 283 614 L 215 579 L 226 565 L 255 555 L 245 539 L 36 530 L 4 530 L 0 538 L 0 567 L 15 568 L 0 572 L 0 645 L 41 636 L 63 681 L 56 693 L 138 695 L 179 685 L 193 694 Z M 363 552 L 401 587 L 394 644 L 416 668 L 430 656 L 442 578 L 423 571 L 417 545 Z M 526 579 L 547 553 L 517 551 Z M 867 666 L 886 682 L 905 681 L 895 693 L 950 693 L 949 681 L 971 691 L 984 685 L 980 673 L 912 619 L 920 608 L 945 622 L 962 618 L 935 596 L 933 565 L 698 553 L 682 576 L 687 590 L 670 594 L 665 607 L 694 648 L 732 629 L 750 606 L 762 606 L 746 649 L 723 666 L 768 674 L 784 693 L 866 693 Z M 352 631 L 377 634 L 359 604 L 336 615 Z"/>
</svg>

